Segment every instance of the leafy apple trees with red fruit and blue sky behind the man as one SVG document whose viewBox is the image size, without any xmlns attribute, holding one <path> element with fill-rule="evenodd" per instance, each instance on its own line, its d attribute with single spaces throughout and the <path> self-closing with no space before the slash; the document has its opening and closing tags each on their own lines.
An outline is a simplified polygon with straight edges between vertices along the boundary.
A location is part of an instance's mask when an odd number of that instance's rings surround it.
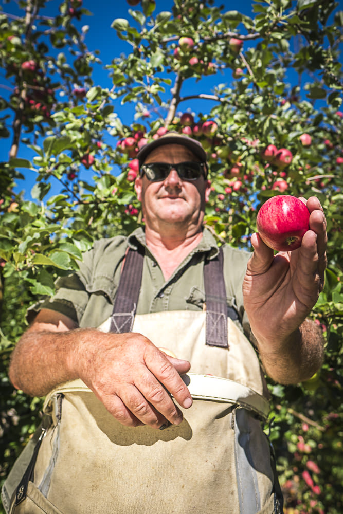
<svg viewBox="0 0 343 514">
<path fill-rule="evenodd" d="M 123 52 L 104 63 L 86 45 L 82 0 L 27 0 L 0 11 L 1 476 L 34 430 L 40 400 L 16 392 L 9 354 L 27 306 L 77 269 L 95 238 L 143 223 L 136 153 L 166 130 L 199 139 L 212 192 L 205 223 L 219 244 L 250 248 L 270 196 L 316 195 L 328 221 L 326 284 L 312 317 L 326 360 L 273 395 L 273 440 L 286 514 L 342 511 L 341 252 L 343 12 L 332 1 L 259 0 L 250 15 L 219 2 L 130 0 L 112 28 Z M 164 3 L 165 5 L 166 3 Z M 56 9 L 56 12 L 51 12 Z M 90 22 L 92 23 L 92 21 Z M 213 85 L 214 84 L 214 85 Z M 130 119 L 125 113 L 132 111 Z M 27 158 L 30 149 L 32 158 Z M 26 172 L 24 171 L 26 170 Z M 18 193 L 24 173 L 37 180 Z"/>
</svg>

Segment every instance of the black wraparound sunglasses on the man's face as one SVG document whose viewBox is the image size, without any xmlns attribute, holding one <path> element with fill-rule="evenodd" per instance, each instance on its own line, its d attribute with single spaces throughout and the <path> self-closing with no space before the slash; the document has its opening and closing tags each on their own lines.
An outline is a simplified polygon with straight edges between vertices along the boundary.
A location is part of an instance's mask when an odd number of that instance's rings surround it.
<svg viewBox="0 0 343 514">
<path fill-rule="evenodd" d="M 176 170 L 182 180 L 197 180 L 202 175 L 207 175 L 207 165 L 205 162 L 179 162 L 178 164 L 167 164 L 166 162 L 150 162 L 142 164 L 139 175 L 144 174 L 151 182 L 165 180 L 171 170 Z"/>
</svg>

